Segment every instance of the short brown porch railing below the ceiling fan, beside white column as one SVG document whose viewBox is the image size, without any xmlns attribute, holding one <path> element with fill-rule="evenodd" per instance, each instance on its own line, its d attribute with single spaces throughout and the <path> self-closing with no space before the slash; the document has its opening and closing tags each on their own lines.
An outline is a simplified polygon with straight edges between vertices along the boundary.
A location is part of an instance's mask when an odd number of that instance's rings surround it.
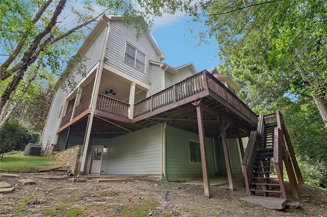
<svg viewBox="0 0 327 217">
<path fill-rule="evenodd" d="M 126 102 L 98 94 L 96 109 L 99 111 L 128 118 L 129 107 L 130 105 Z"/>
</svg>

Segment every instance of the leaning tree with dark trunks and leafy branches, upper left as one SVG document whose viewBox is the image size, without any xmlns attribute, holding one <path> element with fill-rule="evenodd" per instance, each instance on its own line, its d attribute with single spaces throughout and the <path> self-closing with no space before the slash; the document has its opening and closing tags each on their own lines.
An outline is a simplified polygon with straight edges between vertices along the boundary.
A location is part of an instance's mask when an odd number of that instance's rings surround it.
<svg viewBox="0 0 327 217">
<path fill-rule="evenodd" d="M 0 129 L 16 107 L 17 103 L 15 104 L 13 99 L 19 100 L 24 95 L 24 91 L 17 95 L 18 87 L 24 87 L 26 90 L 38 77 L 41 66 L 57 73 L 63 71 L 65 61 L 73 55 L 69 51 L 78 46 L 90 25 L 104 12 L 124 14 L 123 21 L 134 24 L 140 36 L 151 25 L 155 16 L 160 16 L 162 12 L 174 13 L 181 5 L 180 2 L 168 0 L 76 0 L 75 3 L 69 3 L 66 0 L 0 2 L 0 35 L 3 48 L 0 61 L 0 81 L 3 87 L 0 91 Z M 77 10 L 76 5 L 83 6 L 84 11 Z M 95 6 L 101 7 L 103 11 L 96 12 Z M 72 22 L 65 21 L 72 14 L 75 19 Z M 34 68 L 33 75 L 27 79 L 27 83 L 22 82 L 31 68 Z"/>
</svg>

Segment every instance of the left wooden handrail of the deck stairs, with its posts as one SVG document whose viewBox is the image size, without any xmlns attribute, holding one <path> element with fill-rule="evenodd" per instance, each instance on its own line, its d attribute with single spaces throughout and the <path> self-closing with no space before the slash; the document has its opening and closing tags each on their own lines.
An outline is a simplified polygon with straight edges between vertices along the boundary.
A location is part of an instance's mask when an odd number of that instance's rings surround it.
<svg viewBox="0 0 327 217">
<path fill-rule="evenodd" d="M 245 149 L 244 157 L 242 160 L 243 172 L 245 178 L 246 192 L 248 195 L 250 193 L 250 180 L 254 169 L 255 155 L 256 151 L 262 149 L 262 137 L 264 129 L 264 116 L 259 116 L 258 128 L 257 130 L 251 131 L 249 136 L 249 141 Z"/>
</svg>

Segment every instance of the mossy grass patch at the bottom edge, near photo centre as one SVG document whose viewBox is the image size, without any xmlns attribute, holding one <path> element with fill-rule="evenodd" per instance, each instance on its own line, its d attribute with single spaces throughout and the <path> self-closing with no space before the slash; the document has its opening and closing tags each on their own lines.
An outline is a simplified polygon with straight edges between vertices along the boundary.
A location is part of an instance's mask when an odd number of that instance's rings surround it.
<svg viewBox="0 0 327 217">
<path fill-rule="evenodd" d="M 117 207 L 122 216 L 126 217 L 141 217 L 147 216 L 147 214 L 157 207 L 158 203 L 154 198 L 146 198 L 144 200 L 134 201 L 129 205 L 119 206 Z"/>
</svg>

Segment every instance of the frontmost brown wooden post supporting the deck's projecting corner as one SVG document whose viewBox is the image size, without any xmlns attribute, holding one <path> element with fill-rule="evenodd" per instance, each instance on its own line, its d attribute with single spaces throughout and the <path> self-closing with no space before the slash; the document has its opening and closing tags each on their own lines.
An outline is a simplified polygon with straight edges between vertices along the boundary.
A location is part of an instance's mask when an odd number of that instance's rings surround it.
<svg viewBox="0 0 327 217">
<path fill-rule="evenodd" d="M 202 164 L 202 175 L 203 175 L 203 185 L 204 185 L 204 195 L 208 198 L 211 197 L 210 180 L 207 172 L 207 162 L 205 157 L 205 147 L 204 147 L 204 126 L 202 119 L 201 105 L 196 106 L 197 118 L 198 118 L 198 128 L 199 128 L 199 141 L 201 150 L 201 164 Z"/>
</svg>

